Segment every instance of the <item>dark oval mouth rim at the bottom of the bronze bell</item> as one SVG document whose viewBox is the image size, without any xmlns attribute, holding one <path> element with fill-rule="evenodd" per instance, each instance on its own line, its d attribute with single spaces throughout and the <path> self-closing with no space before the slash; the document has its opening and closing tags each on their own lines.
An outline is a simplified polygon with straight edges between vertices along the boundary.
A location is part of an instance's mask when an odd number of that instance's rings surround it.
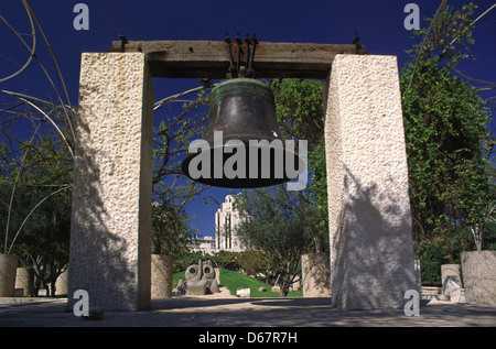
<svg viewBox="0 0 496 349">
<path fill-rule="evenodd" d="M 246 144 L 246 142 L 242 142 L 242 143 Z M 215 186 L 215 187 L 237 188 L 237 189 L 239 189 L 239 188 L 247 188 L 248 189 L 248 188 L 268 187 L 268 186 L 273 186 L 273 185 L 278 185 L 278 184 L 284 184 L 284 183 L 288 183 L 290 181 L 293 181 L 293 179 L 298 178 L 298 176 L 304 172 L 305 163 L 304 163 L 303 159 L 300 156 L 300 154 L 298 152 L 295 152 L 293 150 L 290 150 L 290 149 L 288 149 L 284 145 L 282 145 L 282 146 L 263 146 L 263 144 L 256 144 L 255 146 L 251 146 L 251 148 L 248 148 L 248 149 L 258 148 L 258 149 L 262 150 L 262 149 L 270 148 L 270 149 L 277 149 L 277 150 L 280 150 L 280 151 L 283 152 L 283 156 L 282 156 L 282 160 L 283 160 L 283 162 L 282 162 L 282 166 L 283 166 L 283 168 L 282 168 L 282 176 L 278 176 L 278 177 L 276 177 L 276 176 L 272 177 L 271 176 L 271 177 L 268 177 L 268 178 L 267 177 L 261 177 L 260 176 L 261 166 L 259 164 L 261 157 L 258 157 L 258 167 L 257 167 L 258 176 L 257 177 L 255 177 L 255 178 L 251 177 L 250 178 L 248 176 L 248 170 L 246 170 L 246 173 L 245 173 L 246 177 L 245 178 L 238 178 L 238 177 L 227 178 L 225 176 L 225 173 L 224 173 L 225 162 L 226 162 L 227 159 L 233 156 L 234 153 L 233 152 L 226 152 L 225 149 L 234 149 L 234 148 L 235 146 L 226 146 L 225 144 L 223 144 L 223 145 L 219 145 L 219 146 L 212 146 L 209 149 L 202 150 L 200 152 L 186 153 L 185 159 L 181 163 L 181 173 L 183 175 L 185 175 L 186 177 L 188 177 L 190 179 L 192 179 L 192 181 L 195 181 L 195 182 L 198 182 L 198 183 L 202 183 L 202 184 L 206 184 L 206 185 L 211 185 L 211 186 Z M 213 163 L 213 154 L 214 154 L 213 151 L 215 151 L 217 149 L 222 149 L 223 150 L 223 152 L 222 152 L 222 154 L 223 154 L 223 177 L 222 178 L 215 178 L 214 176 L 212 176 L 213 167 L 214 167 L 212 165 L 212 163 Z M 191 161 L 194 157 L 198 156 L 203 152 L 211 153 L 211 155 L 209 155 L 209 159 L 211 159 L 211 176 L 208 178 L 205 178 L 205 177 L 202 177 L 202 176 L 200 176 L 198 178 L 193 178 L 190 175 L 190 171 L 188 171 L 190 163 L 191 163 Z M 284 171 L 285 170 L 285 165 L 287 165 L 285 164 L 285 159 L 288 159 L 288 156 L 294 156 L 294 159 L 298 159 L 298 171 L 295 171 L 296 174 L 294 176 L 292 176 L 292 177 L 288 176 L 285 171 Z M 272 162 L 271 162 L 271 170 L 270 170 L 271 174 L 272 174 L 272 172 L 276 172 L 276 170 L 272 168 L 273 161 L 274 161 L 274 159 L 272 159 Z M 296 161 L 293 162 L 293 165 L 294 165 L 295 162 Z"/>
</svg>

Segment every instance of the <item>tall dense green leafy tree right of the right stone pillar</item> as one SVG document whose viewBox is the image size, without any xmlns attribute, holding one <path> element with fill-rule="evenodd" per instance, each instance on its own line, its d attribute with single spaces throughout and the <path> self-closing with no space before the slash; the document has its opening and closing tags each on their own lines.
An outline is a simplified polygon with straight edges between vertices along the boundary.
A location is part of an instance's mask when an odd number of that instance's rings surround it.
<svg viewBox="0 0 496 349">
<path fill-rule="evenodd" d="M 489 111 L 477 91 L 452 72 L 471 56 L 475 6 L 448 7 L 413 45 L 401 70 L 403 123 L 417 241 L 481 227 L 494 203 L 489 181 Z M 482 229 L 479 229 L 482 231 Z M 477 232 L 479 232 L 477 231 Z M 477 249 L 482 244 L 479 235 Z"/>
</svg>

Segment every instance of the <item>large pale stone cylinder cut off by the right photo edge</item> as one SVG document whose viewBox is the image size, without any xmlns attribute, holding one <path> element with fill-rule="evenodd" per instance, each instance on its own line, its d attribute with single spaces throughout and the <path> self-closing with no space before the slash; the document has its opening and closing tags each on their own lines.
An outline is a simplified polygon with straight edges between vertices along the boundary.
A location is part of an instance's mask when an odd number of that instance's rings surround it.
<svg viewBox="0 0 496 349">
<path fill-rule="evenodd" d="M 496 306 L 496 251 L 462 253 L 467 303 Z"/>
</svg>

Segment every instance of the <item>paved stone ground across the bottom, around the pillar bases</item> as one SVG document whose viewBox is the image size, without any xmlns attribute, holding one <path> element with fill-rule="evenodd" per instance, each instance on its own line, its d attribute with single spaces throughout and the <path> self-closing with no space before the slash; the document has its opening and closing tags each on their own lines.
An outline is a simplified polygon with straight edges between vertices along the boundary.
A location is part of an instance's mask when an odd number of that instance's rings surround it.
<svg viewBox="0 0 496 349">
<path fill-rule="evenodd" d="M 76 317 L 66 298 L 0 298 L 0 327 L 495 327 L 496 307 L 422 301 L 420 316 L 397 310 L 342 312 L 330 298 L 182 296 L 152 299 L 149 312 Z"/>
</svg>

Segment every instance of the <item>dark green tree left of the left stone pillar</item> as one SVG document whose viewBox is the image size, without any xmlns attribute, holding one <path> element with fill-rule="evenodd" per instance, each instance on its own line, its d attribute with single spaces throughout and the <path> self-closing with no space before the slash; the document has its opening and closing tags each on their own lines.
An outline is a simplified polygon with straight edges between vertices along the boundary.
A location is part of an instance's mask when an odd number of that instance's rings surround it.
<svg viewBox="0 0 496 349">
<path fill-rule="evenodd" d="M 18 160 L 2 146 L 9 159 L 0 181 L 4 251 L 34 271 L 35 294 L 43 286 L 54 295 L 55 281 L 68 263 L 72 159 L 47 134 L 23 142 L 20 151 Z"/>
</svg>

